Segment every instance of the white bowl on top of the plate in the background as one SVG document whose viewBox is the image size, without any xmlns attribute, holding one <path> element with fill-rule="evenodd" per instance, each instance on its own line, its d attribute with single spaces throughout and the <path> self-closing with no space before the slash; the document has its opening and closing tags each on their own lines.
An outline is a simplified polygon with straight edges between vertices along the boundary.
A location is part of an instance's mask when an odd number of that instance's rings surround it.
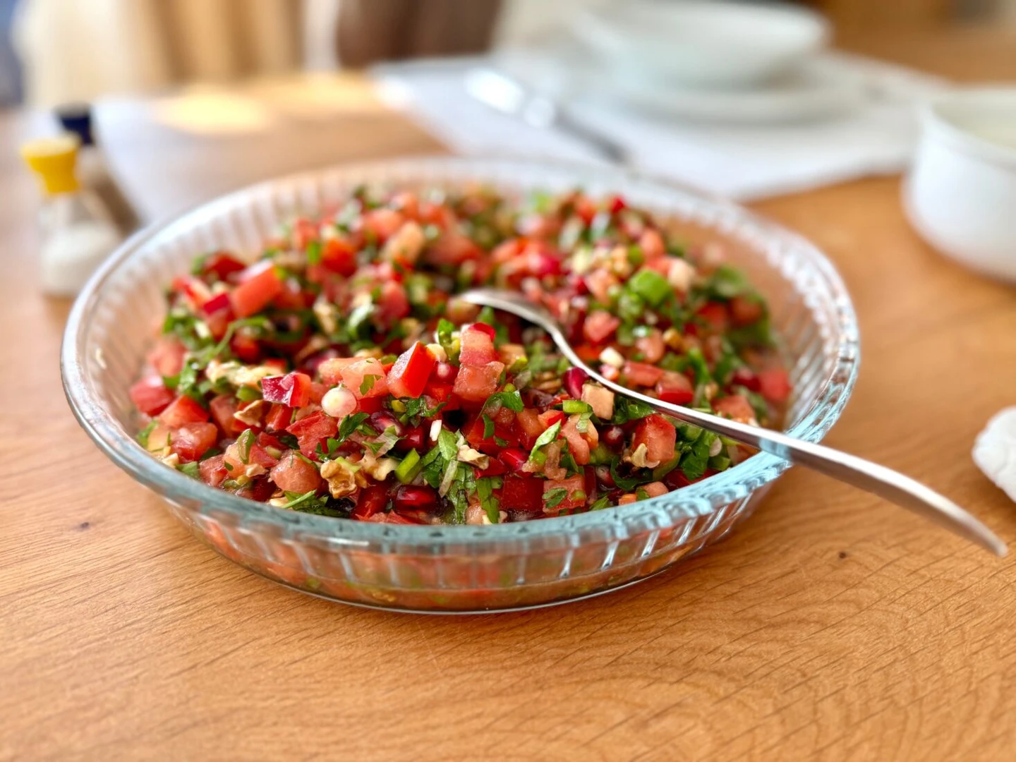
<svg viewBox="0 0 1016 762">
<path fill-rule="evenodd" d="M 826 20 L 806 8 L 725 0 L 615 3 L 580 13 L 574 30 L 619 67 L 723 87 L 784 74 L 829 36 Z"/>
</svg>

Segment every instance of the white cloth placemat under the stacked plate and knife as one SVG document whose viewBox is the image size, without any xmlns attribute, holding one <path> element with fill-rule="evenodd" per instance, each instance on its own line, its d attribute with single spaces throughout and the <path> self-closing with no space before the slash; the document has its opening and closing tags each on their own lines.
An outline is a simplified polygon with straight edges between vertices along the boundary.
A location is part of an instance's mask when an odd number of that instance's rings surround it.
<svg viewBox="0 0 1016 762">
<path fill-rule="evenodd" d="M 823 64 L 864 79 L 871 93 L 864 105 L 825 120 L 740 125 L 650 117 L 585 99 L 571 102 L 570 108 L 583 124 L 622 143 L 638 169 L 742 200 L 902 170 L 914 143 L 916 105 L 945 84 L 856 56 L 830 53 L 822 58 Z M 438 59 L 386 64 L 373 73 L 389 105 L 455 151 L 596 161 L 580 140 L 530 127 L 469 97 L 465 72 L 503 63 L 503 56 L 496 61 Z"/>
</svg>

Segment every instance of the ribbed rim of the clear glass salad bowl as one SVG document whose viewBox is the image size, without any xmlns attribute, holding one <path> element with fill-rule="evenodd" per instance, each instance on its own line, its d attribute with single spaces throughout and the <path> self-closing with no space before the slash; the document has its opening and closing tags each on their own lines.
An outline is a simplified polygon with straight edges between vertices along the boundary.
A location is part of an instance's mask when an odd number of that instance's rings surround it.
<svg viewBox="0 0 1016 762">
<path fill-rule="evenodd" d="M 460 172 L 475 171 L 477 175 L 471 178 L 475 180 L 483 177 L 485 168 L 504 169 L 506 165 L 530 172 L 547 169 L 573 171 L 576 187 L 593 182 L 605 187 L 612 185 L 620 187 L 622 182 L 638 183 L 651 187 L 657 193 L 677 194 L 686 199 L 691 197 L 715 211 L 722 212 L 726 215 L 724 218 L 733 218 L 739 226 L 752 228 L 755 234 L 753 239 L 756 241 L 763 239 L 767 242 L 779 241 L 784 246 L 792 247 L 796 255 L 806 260 L 814 268 L 818 278 L 825 281 L 835 300 L 839 341 L 832 373 L 806 415 L 788 429 L 787 433 L 800 439 L 818 442 L 836 423 L 856 380 L 860 357 L 858 323 L 853 305 L 839 273 L 807 239 L 728 200 L 680 183 L 649 178 L 633 170 L 558 160 L 444 155 L 343 163 L 265 180 L 199 203 L 168 220 L 154 223 L 131 236 L 92 274 L 74 302 L 67 320 L 60 352 L 60 369 L 64 393 L 74 417 L 113 462 L 126 470 L 134 480 L 175 503 L 197 505 L 203 512 L 225 511 L 244 523 L 259 526 L 274 524 L 291 535 L 317 536 L 341 545 L 365 547 L 378 543 L 428 546 L 431 552 L 442 546 L 454 547 L 456 551 L 464 550 L 468 546 L 504 547 L 504 544 L 510 544 L 512 541 L 574 538 L 577 535 L 588 535 L 590 532 L 596 533 L 597 530 L 612 532 L 636 526 L 662 529 L 674 526 L 682 519 L 706 516 L 715 509 L 772 482 L 789 467 L 786 461 L 760 452 L 722 473 L 680 490 L 657 498 L 600 511 L 549 517 L 538 521 L 479 526 L 381 524 L 281 510 L 266 503 L 238 498 L 232 493 L 208 487 L 199 480 L 168 468 L 155 460 L 132 436 L 122 431 L 117 421 L 104 408 L 99 391 L 93 388 L 79 360 L 83 357 L 87 342 L 90 319 L 103 298 L 102 292 L 107 281 L 134 252 L 160 234 L 173 228 L 186 227 L 192 218 L 212 218 L 216 210 L 230 208 L 232 204 L 243 200 L 244 196 L 255 197 L 260 192 L 270 191 L 272 186 L 295 185 L 327 175 L 329 172 L 340 171 L 347 174 L 351 171 L 361 171 L 365 182 L 370 182 L 373 175 L 383 174 L 393 168 L 406 167 L 423 171 L 429 166 L 434 166 L 440 172 L 440 168 L 453 167 Z"/>
</svg>

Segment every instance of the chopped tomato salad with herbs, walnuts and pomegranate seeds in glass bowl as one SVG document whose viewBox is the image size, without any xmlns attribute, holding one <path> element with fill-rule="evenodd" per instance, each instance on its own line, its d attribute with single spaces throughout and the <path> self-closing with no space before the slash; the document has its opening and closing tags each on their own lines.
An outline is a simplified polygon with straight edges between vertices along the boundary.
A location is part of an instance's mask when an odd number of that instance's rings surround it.
<svg viewBox="0 0 1016 762">
<path fill-rule="evenodd" d="M 130 390 L 138 440 L 280 509 L 420 524 L 600 510 L 751 455 L 456 299 L 481 284 L 541 303 L 651 396 L 773 426 L 790 393 L 766 304 L 719 245 L 686 247 L 621 197 L 360 188 L 255 262 L 215 251 L 173 281 Z"/>
</svg>

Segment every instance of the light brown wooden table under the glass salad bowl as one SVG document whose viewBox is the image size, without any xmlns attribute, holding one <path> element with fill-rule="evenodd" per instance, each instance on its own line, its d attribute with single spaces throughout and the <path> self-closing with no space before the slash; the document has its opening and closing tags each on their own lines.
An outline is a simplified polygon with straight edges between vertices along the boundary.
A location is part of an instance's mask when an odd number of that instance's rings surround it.
<svg viewBox="0 0 1016 762">
<path fill-rule="evenodd" d="M 1012 39 L 977 35 L 892 52 L 1016 75 Z M 334 158 L 434 147 L 361 106 Z M 13 151 L 27 125 L 0 121 L 0 758 L 1011 758 L 1016 561 L 802 469 L 719 546 L 548 611 L 351 609 L 198 545 L 64 402 L 68 306 L 37 292 L 36 190 Z M 923 244 L 895 179 L 757 208 L 853 295 L 863 369 L 828 442 L 1016 541 L 1016 508 L 969 458 L 1016 403 L 1016 293 Z"/>
</svg>

